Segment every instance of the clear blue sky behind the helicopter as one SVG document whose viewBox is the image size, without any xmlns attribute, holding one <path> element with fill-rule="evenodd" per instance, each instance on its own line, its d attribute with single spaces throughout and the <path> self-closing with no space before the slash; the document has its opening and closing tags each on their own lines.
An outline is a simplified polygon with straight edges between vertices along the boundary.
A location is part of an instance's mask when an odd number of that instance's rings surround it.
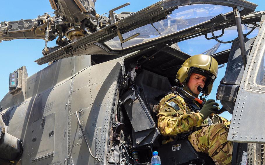
<svg viewBox="0 0 265 165">
<path fill-rule="evenodd" d="M 265 10 L 265 2 L 261 0 L 250 0 L 253 3 L 258 4 L 256 11 Z M 129 6 L 117 11 L 131 11 L 136 12 L 150 6 L 151 4 L 157 2 L 156 0 L 97 0 L 96 11 L 99 14 L 108 12 L 110 9 L 120 6 L 124 3 L 130 2 Z M 53 12 L 50 2 L 48 0 L 37 0 L 32 3 L 30 0 L 24 1 L 2 1 L 0 10 L 0 21 L 15 21 L 20 19 L 34 19 L 38 15 L 43 15 L 45 12 Z M 224 39 L 226 40 L 226 39 Z M 196 44 L 196 43 L 195 43 Z M 48 43 L 48 46 L 55 46 L 55 40 Z M 28 75 L 36 73 L 37 71 L 47 67 L 47 64 L 39 66 L 36 59 L 41 58 L 43 55 L 41 51 L 45 46 L 44 40 L 33 40 L 33 39 L 23 39 L 23 40 L 12 40 L 3 41 L 0 43 L 0 55 L 1 55 L 1 81 L 0 81 L 0 100 L 8 92 L 9 83 L 9 73 L 13 73 L 16 69 L 26 66 Z M 181 47 L 181 43 L 180 43 Z M 188 51 L 188 50 L 187 50 Z M 203 52 L 203 51 L 202 51 Z M 200 53 L 202 53 L 200 52 Z M 189 53 L 189 52 L 187 52 Z M 195 52 L 193 52 L 195 53 Z M 190 52 L 190 54 L 193 54 Z M 214 88 L 211 96 L 209 98 L 215 98 L 217 87 L 222 77 L 224 77 L 225 67 L 219 70 L 218 79 L 214 83 Z M 223 113 L 222 116 L 227 119 L 231 119 L 228 112 Z"/>
</svg>

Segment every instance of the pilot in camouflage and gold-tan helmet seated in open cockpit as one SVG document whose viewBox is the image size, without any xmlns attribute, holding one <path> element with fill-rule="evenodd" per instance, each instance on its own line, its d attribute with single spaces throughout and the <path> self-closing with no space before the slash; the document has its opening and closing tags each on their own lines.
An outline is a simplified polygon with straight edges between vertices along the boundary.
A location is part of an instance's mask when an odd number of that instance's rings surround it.
<svg viewBox="0 0 265 165">
<path fill-rule="evenodd" d="M 210 94 L 217 73 L 218 62 L 213 57 L 194 55 L 183 63 L 176 82 L 197 98 L 199 86 L 204 94 Z M 187 138 L 197 152 L 208 154 L 215 164 L 231 164 L 233 143 L 227 141 L 230 122 L 216 114 L 218 106 L 213 99 L 202 106 L 181 92 L 163 97 L 156 106 L 162 143 L 173 141 L 178 134 L 188 133 Z"/>
</svg>

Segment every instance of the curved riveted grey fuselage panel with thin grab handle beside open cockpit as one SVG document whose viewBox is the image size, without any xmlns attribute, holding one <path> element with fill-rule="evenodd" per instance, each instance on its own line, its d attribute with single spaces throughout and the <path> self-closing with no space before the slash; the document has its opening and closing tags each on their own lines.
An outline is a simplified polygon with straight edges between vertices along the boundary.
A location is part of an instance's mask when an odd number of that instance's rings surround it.
<svg viewBox="0 0 265 165">
<path fill-rule="evenodd" d="M 68 110 L 68 164 L 106 164 L 110 121 L 116 99 L 117 81 L 123 58 L 88 67 L 74 77 L 69 96 Z M 75 112 L 85 132 L 93 155 L 81 134 Z"/>
</svg>

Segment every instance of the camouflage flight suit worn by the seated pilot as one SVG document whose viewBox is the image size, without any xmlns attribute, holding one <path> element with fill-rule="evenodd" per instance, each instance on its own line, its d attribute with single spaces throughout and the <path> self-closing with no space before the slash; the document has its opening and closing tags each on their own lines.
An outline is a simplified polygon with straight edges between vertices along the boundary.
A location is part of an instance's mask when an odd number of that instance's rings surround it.
<svg viewBox="0 0 265 165">
<path fill-rule="evenodd" d="M 163 144 L 173 141 L 177 134 L 192 132 L 188 140 L 197 152 L 208 154 L 215 164 L 231 164 L 233 143 L 227 141 L 226 127 L 229 121 L 214 115 L 214 124 L 206 126 L 208 123 L 202 120 L 200 114 L 192 112 L 183 98 L 175 94 L 162 98 L 156 111 L 158 129 L 164 136 Z"/>
</svg>

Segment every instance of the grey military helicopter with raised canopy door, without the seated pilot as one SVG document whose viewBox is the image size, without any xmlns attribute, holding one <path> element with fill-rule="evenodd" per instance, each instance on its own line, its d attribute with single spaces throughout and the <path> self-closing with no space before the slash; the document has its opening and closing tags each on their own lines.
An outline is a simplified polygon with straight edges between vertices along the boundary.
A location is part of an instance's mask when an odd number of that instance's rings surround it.
<svg viewBox="0 0 265 165">
<path fill-rule="evenodd" d="M 185 139 L 178 150 L 162 145 L 153 111 L 190 57 L 178 44 L 202 37 L 232 43 L 205 52 L 227 63 L 216 98 L 233 114 L 232 164 L 264 164 L 265 12 L 255 12 L 256 4 L 164 0 L 115 13 L 127 3 L 106 17 L 93 0 L 50 3 L 55 16 L 1 22 L 1 41 L 45 40 L 36 62 L 50 65 L 29 77 L 26 67 L 10 73 L 9 93 L 0 102 L 0 164 L 150 164 L 153 150 L 162 164 L 212 164 Z M 238 37 L 219 40 L 229 29 Z M 255 29 L 257 36 L 246 38 Z M 48 47 L 56 37 L 57 46 Z"/>
</svg>

